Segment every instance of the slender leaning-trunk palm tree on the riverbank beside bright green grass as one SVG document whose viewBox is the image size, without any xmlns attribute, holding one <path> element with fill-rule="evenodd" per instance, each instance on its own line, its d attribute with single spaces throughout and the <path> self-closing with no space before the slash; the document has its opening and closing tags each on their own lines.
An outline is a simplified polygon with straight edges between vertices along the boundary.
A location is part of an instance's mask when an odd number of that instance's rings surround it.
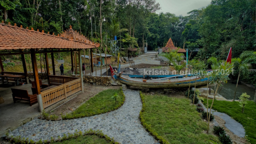
<svg viewBox="0 0 256 144">
<path fill-rule="evenodd" d="M 237 85 L 238 85 L 238 82 L 239 82 L 240 75 L 242 75 L 242 76 L 247 75 L 250 71 L 251 64 L 242 62 L 242 60 L 240 58 L 233 58 L 231 60 L 231 62 L 233 63 L 235 68 L 237 68 L 238 71 L 239 71 L 237 82 L 236 82 L 235 94 L 234 94 L 234 98 L 233 98 L 233 101 L 235 101 L 236 89 L 237 89 Z"/>
</svg>

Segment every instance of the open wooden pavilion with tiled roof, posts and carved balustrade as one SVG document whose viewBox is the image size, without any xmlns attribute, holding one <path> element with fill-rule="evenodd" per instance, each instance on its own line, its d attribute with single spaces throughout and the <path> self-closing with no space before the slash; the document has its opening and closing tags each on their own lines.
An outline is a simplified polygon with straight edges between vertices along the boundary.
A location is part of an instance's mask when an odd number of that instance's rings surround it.
<svg viewBox="0 0 256 144">
<path fill-rule="evenodd" d="M 74 37 L 64 38 L 53 34 L 45 34 L 44 31 L 34 31 L 33 28 L 28 29 L 11 25 L 10 23 L 0 23 L 0 55 L 21 55 L 24 73 L 21 72 L 5 72 L 0 57 L 1 75 L 6 74 L 19 76 L 21 80 L 28 83 L 28 74 L 25 62 L 25 54 L 31 54 L 31 61 L 34 74 L 34 83 L 36 89 L 36 96 L 40 112 L 54 103 L 66 99 L 67 97 L 83 90 L 83 76 L 82 76 L 82 60 L 81 49 L 93 49 L 99 47 L 99 43 L 92 43 L 90 41 L 80 41 Z M 56 76 L 54 68 L 54 53 L 60 52 L 77 52 L 79 56 L 79 73 L 80 77 L 66 77 Z M 44 53 L 46 73 L 48 84 L 54 85 L 53 88 L 46 91 L 40 91 L 40 83 L 38 78 L 38 70 L 36 63 L 36 53 Z M 53 73 L 49 71 L 48 55 L 51 53 Z M 17 80 L 18 81 L 18 80 Z"/>
</svg>

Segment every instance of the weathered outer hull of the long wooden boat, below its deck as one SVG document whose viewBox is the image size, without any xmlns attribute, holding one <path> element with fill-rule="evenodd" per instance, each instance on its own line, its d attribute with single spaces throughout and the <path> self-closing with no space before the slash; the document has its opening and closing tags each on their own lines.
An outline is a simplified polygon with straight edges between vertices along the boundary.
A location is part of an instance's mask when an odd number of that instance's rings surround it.
<svg viewBox="0 0 256 144">
<path fill-rule="evenodd" d="M 136 79 L 130 78 L 129 76 L 116 76 L 117 80 L 122 82 L 123 84 L 134 86 L 138 88 L 188 88 L 194 87 L 195 83 L 197 87 L 201 87 L 207 85 L 208 78 L 198 78 L 196 79 L 195 76 L 187 77 L 187 78 L 172 78 L 172 79 L 165 79 L 165 80 L 146 80 L 143 82 L 143 79 Z M 210 82 L 210 80 L 209 80 Z"/>
</svg>

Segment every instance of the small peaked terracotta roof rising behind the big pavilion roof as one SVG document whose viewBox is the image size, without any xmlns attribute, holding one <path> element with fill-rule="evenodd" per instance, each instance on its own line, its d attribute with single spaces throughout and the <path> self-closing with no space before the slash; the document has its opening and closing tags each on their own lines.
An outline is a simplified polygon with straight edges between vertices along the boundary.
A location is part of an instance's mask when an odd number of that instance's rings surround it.
<svg viewBox="0 0 256 144">
<path fill-rule="evenodd" d="M 65 31 L 64 33 L 60 34 L 60 36 L 64 37 L 64 38 L 72 38 L 73 37 L 75 40 L 78 40 L 78 41 L 93 43 L 88 38 L 86 38 L 84 35 L 79 34 L 78 32 L 74 31 L 72 29 L 71 25 L 69 26 L 69 29 L 67 31 Z"/>
</svg>

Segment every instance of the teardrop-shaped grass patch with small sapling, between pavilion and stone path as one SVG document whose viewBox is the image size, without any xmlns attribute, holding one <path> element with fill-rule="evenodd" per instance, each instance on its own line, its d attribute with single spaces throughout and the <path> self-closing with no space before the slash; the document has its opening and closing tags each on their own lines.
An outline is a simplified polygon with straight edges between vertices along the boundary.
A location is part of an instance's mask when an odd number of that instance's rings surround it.
<svg viewBox="0 0 256 144">
<path fill-rule="evenodd" d="M 117 93 L 119 97 L 117 98 L 117 104 L 111 99 L 111 97 Z M 124 94 L 121 89 L 109 89 L 99 92 L 94 97 L 90 98 L 79 108 L 74 110 L 72 113 L 62 115 L 62 119 L 75 119 L 81 117 L 89 117 L 96 114 L 106 113 L 119 108 L 124 102 Z"/>
</svg>

